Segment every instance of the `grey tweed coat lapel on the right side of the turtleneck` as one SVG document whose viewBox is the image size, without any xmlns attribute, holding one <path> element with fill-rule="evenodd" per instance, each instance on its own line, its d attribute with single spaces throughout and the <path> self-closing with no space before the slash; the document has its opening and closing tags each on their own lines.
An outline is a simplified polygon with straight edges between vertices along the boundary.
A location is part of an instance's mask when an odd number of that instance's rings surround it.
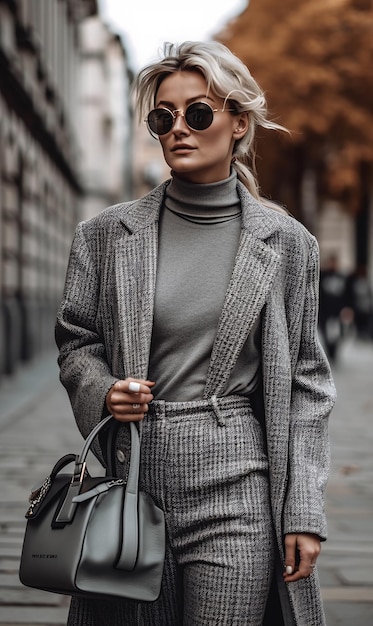
<svg viewBox="0 0 373 626">
<path fill-rule="evenodd" d="M 264 241 L 278 227 L 275 211 L 264 210 L 241 184 L 238 191 L 243 230 L 211 354 L 205 398 L 223 393 L 281 264 L 280 255 Z"/>
</svg>

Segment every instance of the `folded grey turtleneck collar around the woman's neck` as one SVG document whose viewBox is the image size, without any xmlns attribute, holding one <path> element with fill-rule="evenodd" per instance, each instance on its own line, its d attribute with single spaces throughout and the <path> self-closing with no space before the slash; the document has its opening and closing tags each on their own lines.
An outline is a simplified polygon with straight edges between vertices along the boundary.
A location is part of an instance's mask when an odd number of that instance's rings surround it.
<svg viewBox="0 0 373 626">
<path fill-rule="evenodd" d="M 175 174 L 167 187 L 165 206 L 179 217 L 197 224 L 227 222 L 241 214 L 237 174 L 216 183 L 195 184 Z"/>
</svg>

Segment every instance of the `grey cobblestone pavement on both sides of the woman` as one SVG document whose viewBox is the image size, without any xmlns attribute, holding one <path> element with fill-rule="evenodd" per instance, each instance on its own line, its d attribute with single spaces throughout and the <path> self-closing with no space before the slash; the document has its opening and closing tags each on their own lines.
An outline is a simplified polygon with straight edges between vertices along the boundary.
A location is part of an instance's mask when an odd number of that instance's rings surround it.
<svg viewBox="0 0 373 626">
<path fill-rule="evenodd" d="M 18 580 L 30 487 L 82 444 L 55 360 L 51 354 L 0 386 L 0 626 L 66 624 L 68 598 Z M 373 345 L 346 341 L 334 367 L 329 539 L 319 559 L 328 626 L 373 624 L 372 373 Z"/>
</svg>

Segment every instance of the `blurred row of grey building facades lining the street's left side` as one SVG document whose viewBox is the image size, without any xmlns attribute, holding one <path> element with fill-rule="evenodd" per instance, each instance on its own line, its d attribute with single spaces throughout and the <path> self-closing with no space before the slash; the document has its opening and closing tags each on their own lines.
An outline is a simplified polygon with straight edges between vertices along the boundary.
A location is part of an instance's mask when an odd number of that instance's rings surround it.
<svg viewBox="0 0 373 626">
<path fill-rule="evenodd" d="M 131 195 L 130 79 L 96 0 L 0 0 L 0 382 L 54 345 L 78 221 Z"/>
</svg>

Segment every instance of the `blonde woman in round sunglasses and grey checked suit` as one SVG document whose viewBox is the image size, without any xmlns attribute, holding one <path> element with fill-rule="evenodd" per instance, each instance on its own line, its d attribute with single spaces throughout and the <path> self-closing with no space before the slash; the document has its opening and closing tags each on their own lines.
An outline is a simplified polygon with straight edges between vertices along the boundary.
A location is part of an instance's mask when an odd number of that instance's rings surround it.
<svg viewBox="0 0 373 626">
<path fill-rule="evenodd" d="M 142 488 L 167 520 L 159 599 L 73 599 L 70 625 L 325 623 L 327 417 L 315 239 L 246 165 L 265 98 L 218 43 L 166 45 L 140 115 L 172 178 L 78 226 L 56 338 L 78 426 L 142 423 Z M 104 463 L 97 445 L 95 453 Z"/>
</svg>

